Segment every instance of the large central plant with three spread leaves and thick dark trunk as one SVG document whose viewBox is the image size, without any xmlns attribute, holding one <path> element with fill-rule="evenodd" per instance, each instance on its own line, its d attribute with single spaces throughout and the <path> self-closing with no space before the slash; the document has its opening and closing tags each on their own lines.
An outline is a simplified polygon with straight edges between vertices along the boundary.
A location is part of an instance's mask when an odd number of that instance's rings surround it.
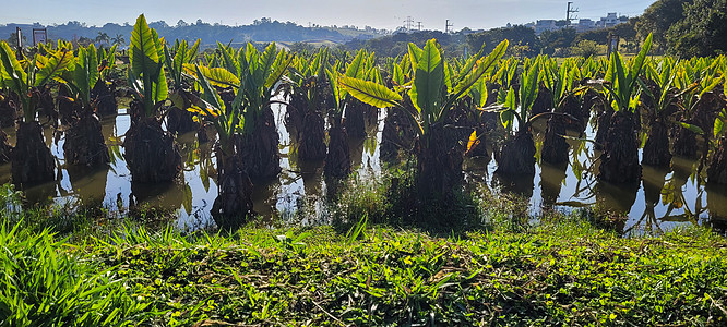
<svg viewBox="0 0 727 327">
<path fill-rule="evenodd" d="M 408 87 L 403 87 L 406 98 L 416 108 L 416 113 L 406 110 L 404 97 L 381 84 L 356 77 L 338 76 L 342 89 L 357 99 L 378 107 L 394 107 L 412 114 L 419 135 L 417 154 L 419 187 L 424 194 L 451 194 L 452 187 L 462 178 L 462 157 L 465 149 L 452 152 L 445 140 L 444 121 L 457 101 L 469 94 L 470 88 L 502 58 L 508 41 L 502 41 L 487 57 L 478 53 L 465 63 L 458 74 L 454 74 L 445 63 L 445 58 L 436 39 L 427 41 L 424 48 L 409 44 L 409 60 L 414 76 Z"/>
</svg>

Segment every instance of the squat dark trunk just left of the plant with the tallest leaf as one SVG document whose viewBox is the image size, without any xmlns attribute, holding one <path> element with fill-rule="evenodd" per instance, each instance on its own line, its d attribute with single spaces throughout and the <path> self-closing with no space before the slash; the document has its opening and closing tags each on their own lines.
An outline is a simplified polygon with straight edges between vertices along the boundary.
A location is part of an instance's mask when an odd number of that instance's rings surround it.
<svg viewBox="0 0 727 327">
<path fill-rule="evenodd" d="M 96 167 L 111 161 L 95 114 L 86 112 L 65 132 L 63 155 L 65 162 L 74 166 Z"/>
</svg>

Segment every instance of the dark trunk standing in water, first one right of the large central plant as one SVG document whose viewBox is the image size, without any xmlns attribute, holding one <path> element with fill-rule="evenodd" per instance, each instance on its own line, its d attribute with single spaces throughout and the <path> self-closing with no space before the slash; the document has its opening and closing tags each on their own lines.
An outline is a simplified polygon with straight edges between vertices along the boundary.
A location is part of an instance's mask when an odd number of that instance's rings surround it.
<svg viewBox="0 0 727 327">
<path fill-rule="evenodd" d="M 535 143 L 526 128 L 502 144 L 496 153 L 497 173 L 505 175 L 535 175 Z"/>
</svg>

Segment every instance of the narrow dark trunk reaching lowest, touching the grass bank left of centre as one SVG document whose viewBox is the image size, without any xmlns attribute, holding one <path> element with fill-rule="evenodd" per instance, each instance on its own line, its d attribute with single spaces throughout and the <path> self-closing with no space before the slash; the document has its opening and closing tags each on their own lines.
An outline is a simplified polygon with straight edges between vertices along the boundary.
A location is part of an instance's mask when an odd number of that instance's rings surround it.
<svg viewBox="0 0 727 327">
<path fill-rule="evenodd" d="M 234 142 L 235 144 L 237 142 Z M 237 155 L 226 155 L 219 147 L 217 156 L 217 198 L 212 205 L 212 217 L 219 228 L 240 227 L 254 215 L 252 182 Z"/>
</svg>

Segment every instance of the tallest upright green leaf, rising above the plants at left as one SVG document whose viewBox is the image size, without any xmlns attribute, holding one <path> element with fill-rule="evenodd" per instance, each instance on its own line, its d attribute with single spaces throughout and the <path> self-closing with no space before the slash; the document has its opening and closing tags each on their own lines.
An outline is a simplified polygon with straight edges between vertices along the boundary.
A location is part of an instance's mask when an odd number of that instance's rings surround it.
<svg viewBox="0 0 727 327">
<path fill-rule="evenodd" d="M 159 63 L 159 56 L 156 49 L 152 29 L 146 24 L 144 14 L 136 19 L 134 29 L 131 31 L 131 71 L 135 76 L 142 74 L 153 74 L 156 65 Z"/>
</svg>

